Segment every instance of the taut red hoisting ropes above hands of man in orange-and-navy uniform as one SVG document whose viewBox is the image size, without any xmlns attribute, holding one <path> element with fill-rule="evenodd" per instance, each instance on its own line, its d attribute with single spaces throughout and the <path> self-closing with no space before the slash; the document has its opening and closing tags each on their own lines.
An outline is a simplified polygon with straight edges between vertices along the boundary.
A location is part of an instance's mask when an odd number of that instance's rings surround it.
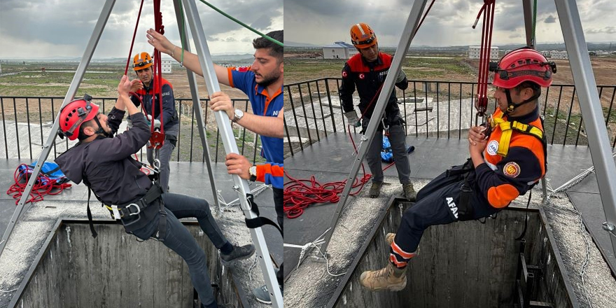
<svg viewBox="0 0 616 308">
<path fill-rule="evenodd" d="M 484 5 L 477 13 L 477 18 L 475 19 L 475 23 L 472 25 L 472 29 L 477 27 L 477 22 L 479 22 L 479 17 L 483 14 L 483 25 L 482 25 L 482 43 L 479 49 L 479 67 L 478 67 L 478 78 L 477 78 L 477 102 L 475 104 L 475 108 L 477 108 L 477 113 L 475 113 L 475 123 L 484 123 L 486 110 L 488 108 L 488 76 L 489 76 L 489 63 L 490 63 L 490 51 L 492 45 L 492 26 L 494 22 L 494 0 L 484 0 Z M 482 121 L 479 122 L 479 117 L 482 118 Z"/>
</svg>

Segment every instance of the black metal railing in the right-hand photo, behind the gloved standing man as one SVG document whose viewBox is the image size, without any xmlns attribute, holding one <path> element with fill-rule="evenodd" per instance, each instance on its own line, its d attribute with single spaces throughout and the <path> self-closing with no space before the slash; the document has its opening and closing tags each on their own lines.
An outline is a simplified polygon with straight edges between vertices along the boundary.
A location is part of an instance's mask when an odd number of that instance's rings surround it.
<svg viewBox="0 0 616 308">
<path fill-rule="evenodd" d="M 349 126 L 343 116 L 338 89 L 342 78 L 319 78 L 284 85 L 285 155 L 297 151 L 336 132 L 360 132 Z M 616 146 L 616 85 L 597 85 L 603 118 L 612 149 Z M 409 80 L 406 90 L 395 89 L 407 135 L 415 137 L 465 138 L 476 124 L 477 83 L 440 80 Z M 354 93 L 354 105 L 359 103 Z M 376 99 L 374 99 L 376 101 Z M 548 144 L 587 145 L 580 104 L 575 85 L 552 85 L 542 89 L 540 113 Z M 490 99 L 488 110 L 496 109 Z M 360 114 L 360 113 L 358 113 Z M 479 120 L 481 122 L 481 120 Z"/>
</svg>

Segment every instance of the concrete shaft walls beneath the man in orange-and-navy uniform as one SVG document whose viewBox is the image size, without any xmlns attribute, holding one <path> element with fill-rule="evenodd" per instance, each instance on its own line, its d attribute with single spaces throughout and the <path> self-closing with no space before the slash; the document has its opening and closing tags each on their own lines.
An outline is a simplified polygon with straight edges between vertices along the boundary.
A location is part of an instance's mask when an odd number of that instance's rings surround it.
<svg viewBox="0 0 616 308">
<path fill-rule="evenodd" d="M 387 232 L 395 232 L 402 207 L 390 207 L 376 228 L 352 274 L 330 301 L 330 307 L 514 307 L 519 259 L 518 237 L 525 211 L 505 209 L 485 223 L 468 221 L 428 228 L 419 255 L 409 262 L 407 287 L 400 292 L 367 292 L 359 284 L 365 270 L 384 267 L 389 247 Z M 529 212 L 526 231 L 529 265 L 541 265 L 542 277 L 532 300 L 552 307 L 572 307 L 548 232 L 537 211 Z M 339 295 L 336 297 L 336 295 Z M 573 293 L 571 296 L 574 297 Z"/>
</svg>

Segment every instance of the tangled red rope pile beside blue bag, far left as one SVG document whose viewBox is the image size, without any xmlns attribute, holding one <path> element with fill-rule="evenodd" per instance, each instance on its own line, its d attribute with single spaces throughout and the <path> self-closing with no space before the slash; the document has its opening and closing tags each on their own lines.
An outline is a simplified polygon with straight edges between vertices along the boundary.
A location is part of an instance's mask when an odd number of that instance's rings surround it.
<svg viewBox="0 0 616 308">
<path fill-rule="evenodd" d="M 23 172 L 20 172 L 20 168 L 23 167 Z M 15 169 L 15 173 L 13 174 L 13 179 L 15 180 L 15 184 L 11 185 L 6 193 L 15 199 L 15 205 L 19 203 L 24 191 L 26 190 L 26 186 L 28 185 L 29 178 L 31 176 L 30 172 L 27 172 L 29 167 L 25 164 L 20 165 L 17 169 Z M 43 174 L 38 175 L 38 179 L 34 182 L 34 186 L 32 186 L 32 190 L 30 191 L 28 202 L 39 202 L 43 201 L 43 196 L 45 195 L 57 195 L 62 193 L 64 188 L 71 187 L 69 183 L 57 183 L 56 180 L 49 179 L 48 176 L 44 176 Z M 57 191 L 54 191 L 56 190 Z"/>
</svg>

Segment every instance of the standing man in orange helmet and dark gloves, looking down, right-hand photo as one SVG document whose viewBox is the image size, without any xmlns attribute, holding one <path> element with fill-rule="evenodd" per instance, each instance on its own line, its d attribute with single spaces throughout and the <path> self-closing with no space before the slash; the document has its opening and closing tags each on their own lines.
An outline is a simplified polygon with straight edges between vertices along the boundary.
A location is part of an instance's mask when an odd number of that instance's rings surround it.
<svg viewBox="0 0 616 308">
<path fill-rule="evenodd" d="M 342 69 L 342 83 L 340 84 L 339 94 L 342 101 L 342 109 L 344 116 L 349 120 L 350 125 L 362 125 L 362 130 L 365 130 L 370 123 L 374 106 L 377 104 L 377 98 L 381 92 L 381 87 L 385 82 L 389 66 L 391 66 L 391 55 L 379 51 L 377 36 L 372 29 L 364 24 L 359 23 L 351 27 L 351 42 L 357 48 L 359 53 L 349 59 L 344 64 Z M 405 90 L 409 84 L 407 77 L 400 69 L 398 77 L 395 80 L 395 86 Z M 359 94 L 359 110 L 361 111 L 361 124 L 355 107 L 353 106 L 353 92 L 357 88 Z M 395 90 L 389 96 L 385 114 L 380 121 L 379 129 L 372 138 L 370 146 L 366 154 L 366 160 L 370 172 L 372 173 L 372 186 L 370 186 L 370 197 L 379 197 L 381 186 L 383 185 L 383 169 L 381 165 L 381 148 L 383 145 L 383 130 L 389 138 L 391 150 L 393 152 L 393 160 L 395 161 L 395 169 L 398 170 L 398 179 L 402 184 L 402 190 L 407 199 L 415 200 L 415 190 L 411 182 L 411 165 L 407 155 L 407 147 L 405 144 L 406 132 L 404 120 L 400 115 L 398 101 L 395 98 Z"/>
</svg>

